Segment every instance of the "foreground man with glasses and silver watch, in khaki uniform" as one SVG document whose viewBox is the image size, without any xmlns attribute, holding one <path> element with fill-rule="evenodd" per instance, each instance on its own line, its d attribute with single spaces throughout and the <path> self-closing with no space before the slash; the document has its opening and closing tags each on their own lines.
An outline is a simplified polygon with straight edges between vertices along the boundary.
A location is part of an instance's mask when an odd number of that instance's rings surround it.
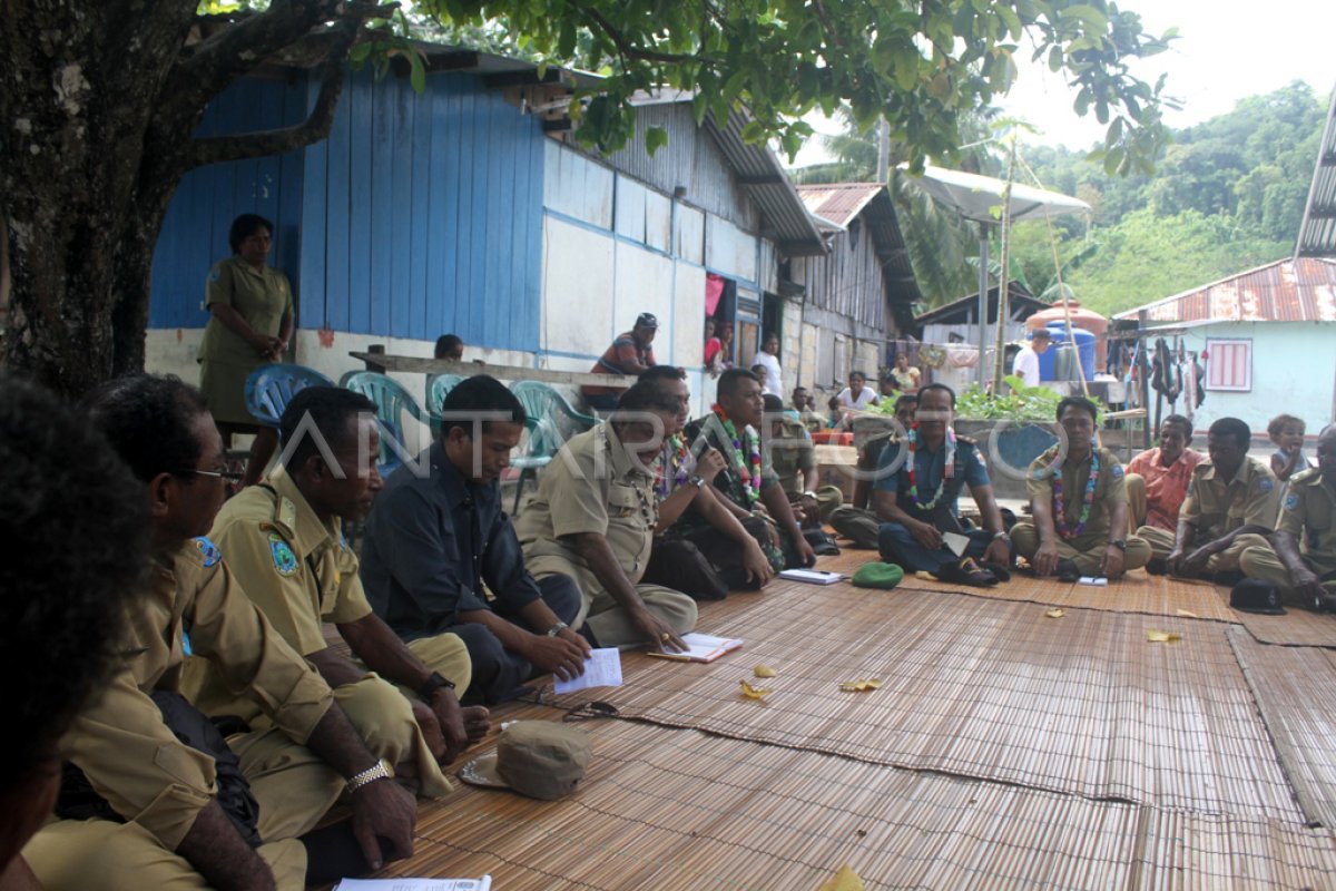
<svg viewBox="0 0 1336 891">
<path fill-rule="evenodd" d="M 369 747 L 202 537 L 228 476 L 204 398 L 176 378 L 134 375 L 88 407 L 140 482 L 152 562 L 120 672 L 61 743 L 77 768 L 57 804 L 65 819 L 24 850 L 43 887 L 301 888 L 409 856 L 417 806 L 379 759 L 420 763 L 421 736 L 409 719 L 411 736 Z M 179 693 L 187 653 L 265 723 L 224 741 Z M 313 831 L 345 793 L 351 822 Z"/>
</svg>

